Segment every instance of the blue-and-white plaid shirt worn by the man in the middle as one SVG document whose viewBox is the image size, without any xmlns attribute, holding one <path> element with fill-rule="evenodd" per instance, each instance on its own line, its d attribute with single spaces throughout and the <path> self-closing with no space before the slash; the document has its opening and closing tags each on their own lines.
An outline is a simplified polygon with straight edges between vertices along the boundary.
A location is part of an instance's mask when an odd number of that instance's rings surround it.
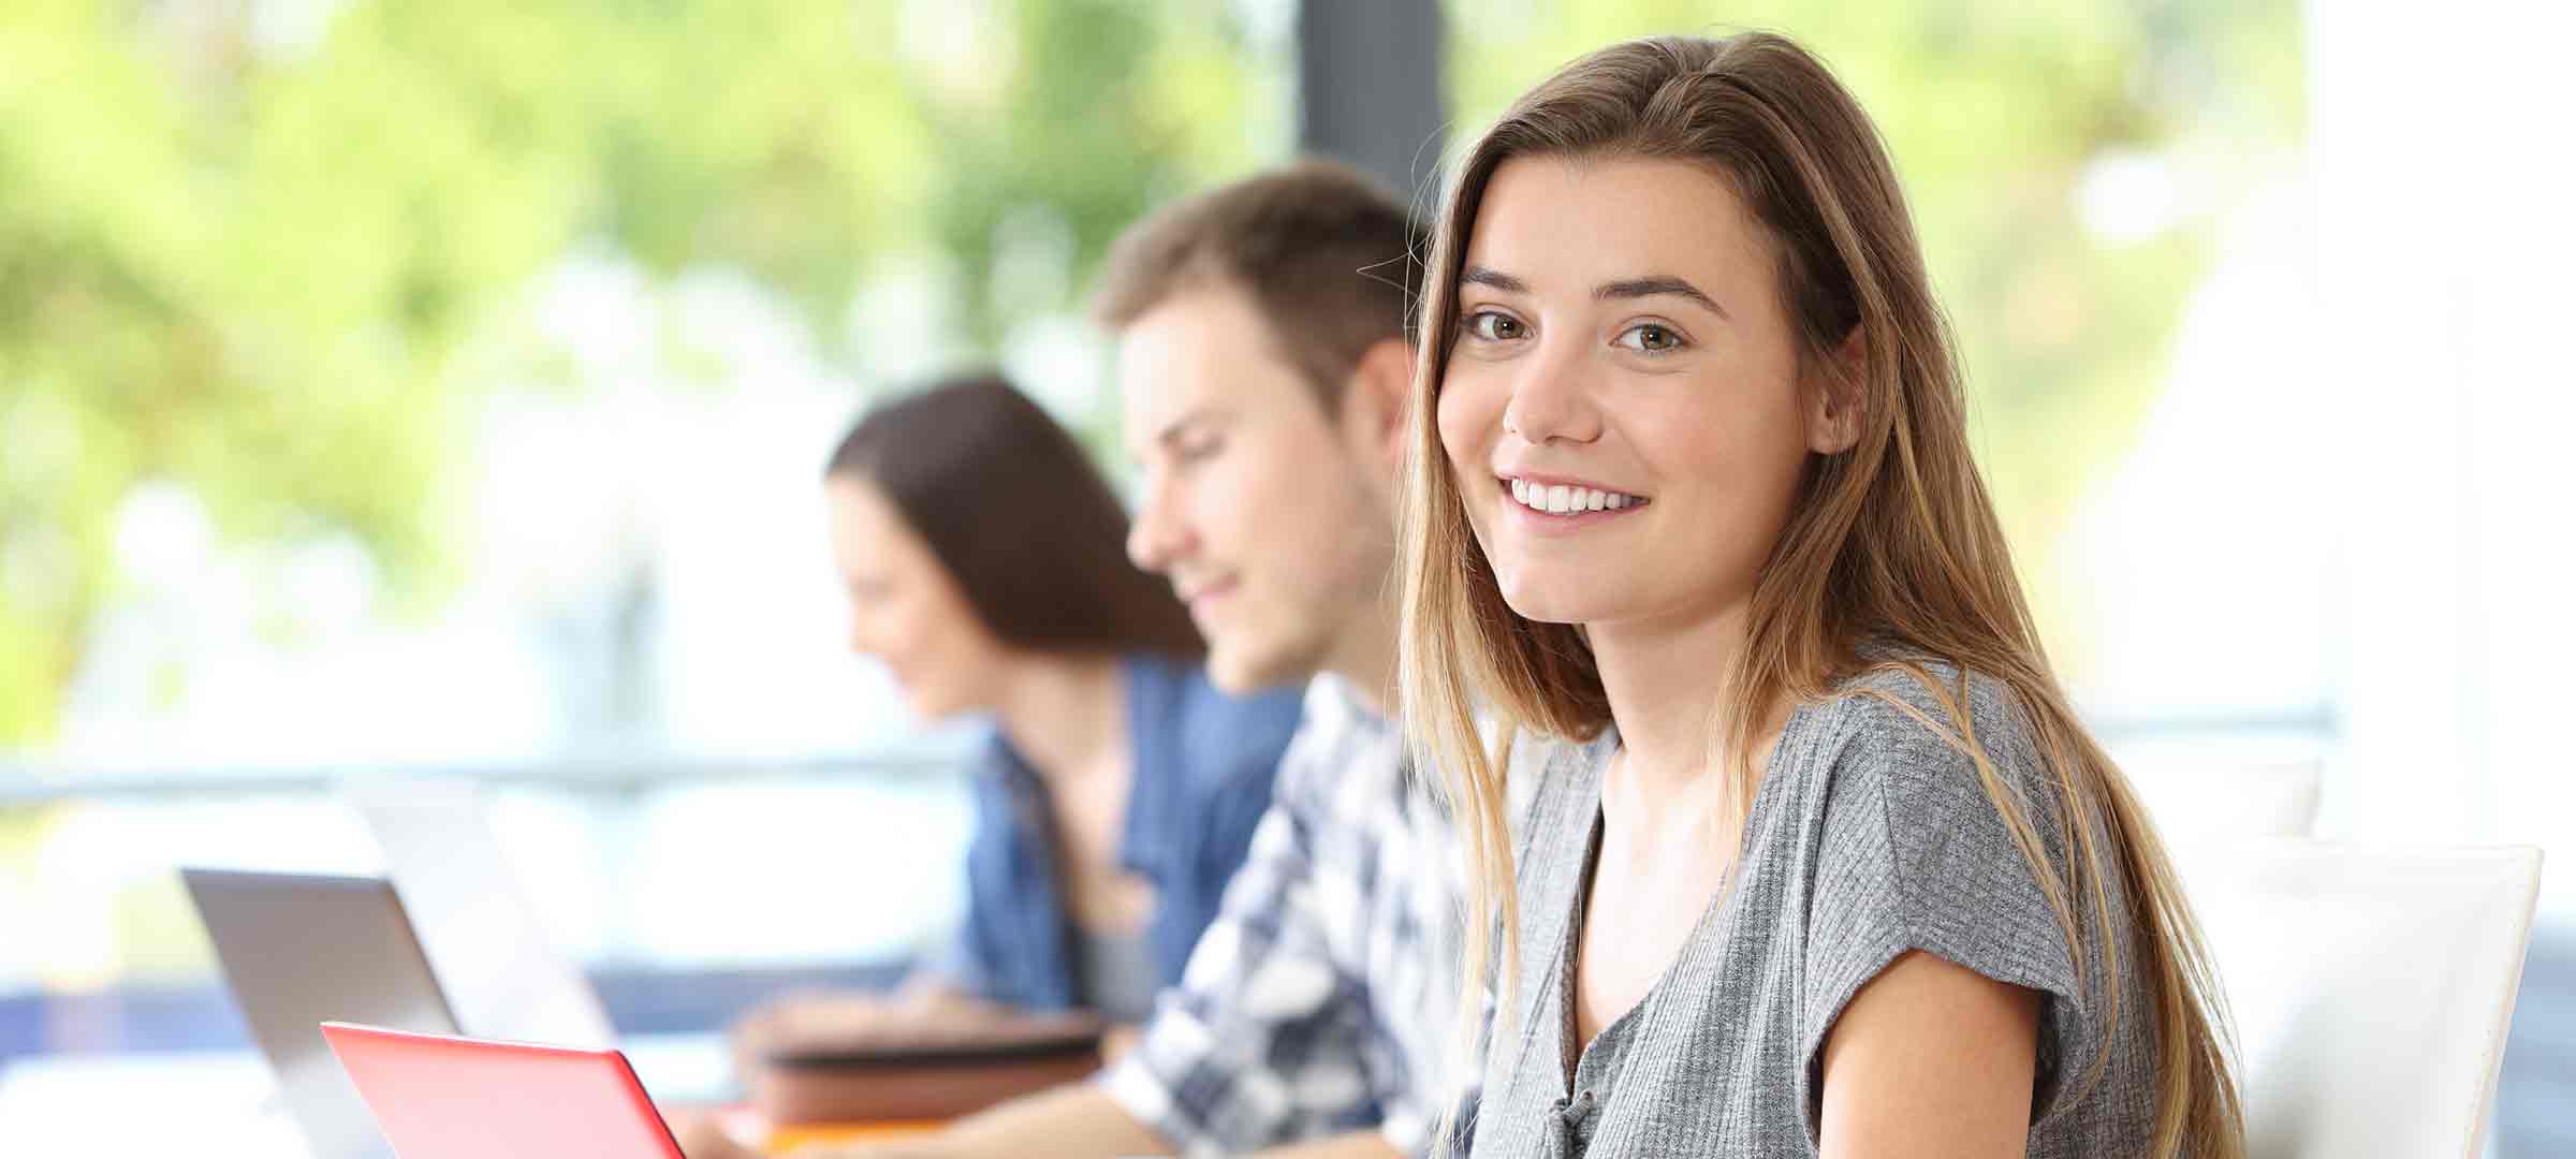
<svg viewBox="0 0 2576 1159">
<path fill-rule="evenodd" d="M 1216 922 L 1100 1084 L 1185 1154 L 1365 1128 L 1419 1154 L 1458 1097 L 1458 891 L 1401 729 L 1316 677 Z"/>
</svg>

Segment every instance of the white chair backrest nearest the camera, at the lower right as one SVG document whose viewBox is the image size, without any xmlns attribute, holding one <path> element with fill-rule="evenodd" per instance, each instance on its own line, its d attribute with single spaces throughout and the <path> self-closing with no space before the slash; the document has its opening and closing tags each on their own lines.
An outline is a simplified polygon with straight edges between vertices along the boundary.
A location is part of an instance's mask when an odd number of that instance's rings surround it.
<svg viewBox="0 0 2576 1159">
<path fill-rule="evenodd" d="M 2254 1159 L 2476 1159 L 2535 847 L 2177 842 L 2226 979 Z"/>
</svg>

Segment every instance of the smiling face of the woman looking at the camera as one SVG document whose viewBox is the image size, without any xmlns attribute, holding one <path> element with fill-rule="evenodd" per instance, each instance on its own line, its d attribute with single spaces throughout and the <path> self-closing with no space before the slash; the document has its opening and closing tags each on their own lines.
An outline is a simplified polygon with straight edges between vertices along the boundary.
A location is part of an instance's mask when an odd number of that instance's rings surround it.
<svg viewBox="0 0 2576 1159">
<path fill-rule="evenodd" d="M 1747 600 L 1832 451 L 1767 229 L 1713 170 L 1512 157 L 1466 245 L 1440 446 L 1533 621 L 1700 621 Z"/>
</svg>

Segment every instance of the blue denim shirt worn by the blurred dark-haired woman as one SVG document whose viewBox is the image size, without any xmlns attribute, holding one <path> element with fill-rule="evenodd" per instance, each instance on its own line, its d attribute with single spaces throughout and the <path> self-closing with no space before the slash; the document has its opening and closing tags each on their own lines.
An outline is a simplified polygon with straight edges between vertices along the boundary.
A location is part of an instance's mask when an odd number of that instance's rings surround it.
<svg viewBox="0 0 2576 1159">
<path fill-rule="evenodd" d="M 1195 664 L 1144 654 L 1126 657 L 1121 672 L 1133 783 L 1118 865 L 1154 886 L 1146 943 L 1170 986 L 1270 809 L 1298 690 L 1234 698 Z M 1077 1007 L 1074 925 L 1046 786 L 999 731 L 976 757 L 974 814 L 966 925 L 933 971 L 987 1002 Z"/>
</svg>

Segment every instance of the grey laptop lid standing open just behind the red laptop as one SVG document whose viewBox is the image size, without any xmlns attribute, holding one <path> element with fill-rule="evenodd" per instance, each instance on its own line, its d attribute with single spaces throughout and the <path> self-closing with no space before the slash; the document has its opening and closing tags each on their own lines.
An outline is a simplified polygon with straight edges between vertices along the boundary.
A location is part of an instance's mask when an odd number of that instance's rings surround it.
<svg viewBox="0 0 2576 1159">
<path fill-rule="evenodd" d="M 314 1159 L 389 1159 L 325 1020 L 459 1033 L 394 886 L 381 878 L 180 871 L 250 1038 Z"/>
</svg>

